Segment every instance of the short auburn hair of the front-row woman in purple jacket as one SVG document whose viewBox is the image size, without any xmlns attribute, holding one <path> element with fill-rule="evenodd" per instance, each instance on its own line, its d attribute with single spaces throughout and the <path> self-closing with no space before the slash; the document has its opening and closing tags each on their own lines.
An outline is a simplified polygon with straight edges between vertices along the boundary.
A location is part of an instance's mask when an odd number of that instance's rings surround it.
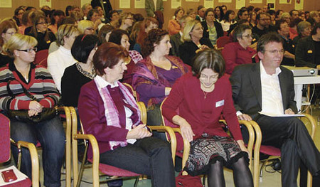
<svg viewBox="0 0 320 187">
<path fill-rule="evenodd" d="M 97 75 L 105 75 L 105 68 L 113 68 L 122 58 L 127 58 L 127 50 L 115 43 L 102 43 L 93 55 L 93 65 Z"/>
</svg>

